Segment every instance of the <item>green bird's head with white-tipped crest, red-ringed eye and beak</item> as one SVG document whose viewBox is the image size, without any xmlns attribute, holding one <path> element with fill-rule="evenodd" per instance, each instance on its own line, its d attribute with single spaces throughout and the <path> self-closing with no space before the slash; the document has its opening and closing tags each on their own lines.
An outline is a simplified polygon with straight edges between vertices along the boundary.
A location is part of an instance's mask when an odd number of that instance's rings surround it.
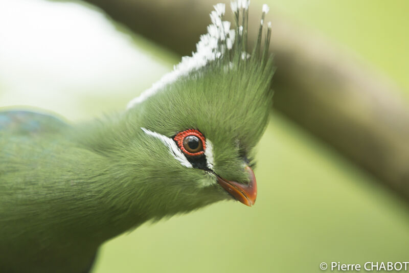
<svg viewBox="0 0 409 273">
<path fill-rule="evenodd" d="M 156 188 L 167 187 L 160 202 L 168 209 L 175 200 L 186 211 L 229 198 L 247 206 L 256 200 L 252 155 L 266 127 L 274 71 L 270 24 L 262 38 L 268 8 L 248 53 L 248 1 L 232 3 L 233 29 L 222 20 L 224 4 L 214 7 L 197 52 L 128 105 L 140 120 L 143 168 Z"/>
</svg>

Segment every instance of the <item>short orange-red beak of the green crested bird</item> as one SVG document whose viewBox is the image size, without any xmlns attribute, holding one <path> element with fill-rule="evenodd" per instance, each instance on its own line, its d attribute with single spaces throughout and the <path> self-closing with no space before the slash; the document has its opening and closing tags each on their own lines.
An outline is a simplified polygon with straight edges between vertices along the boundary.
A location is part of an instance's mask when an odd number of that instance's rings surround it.
<svg viewBox="0 0 409 273">
<path fill-rule="evenodd" d="M 217 175 L 217 181 L 223 189 L 225 189 L 236 200 L 242 202 L 248 207 L 251 207 L 256 202 L 257 197 L 257 183 L 256 177 L 252 168 L 246 167 L 250 181 L 247 185 L 237 183 L 236 181 L 226 180 Z"/>
</svg>

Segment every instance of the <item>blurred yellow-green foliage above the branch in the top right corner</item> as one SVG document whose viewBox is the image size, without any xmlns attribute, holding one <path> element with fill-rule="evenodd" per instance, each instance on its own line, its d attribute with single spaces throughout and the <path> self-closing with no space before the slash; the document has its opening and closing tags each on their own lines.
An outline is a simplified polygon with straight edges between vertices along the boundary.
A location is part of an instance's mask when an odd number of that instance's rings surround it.
<svg viewBox="0 0 409 273">
<path fill-rule="evenodd" d="M 402 86 L 409 99 L 409 2 L 396 0 L 255 0 L 268 3 L 375 65 Z M 274 38 L 274 26 L 273 26 Z"/>
</svg>

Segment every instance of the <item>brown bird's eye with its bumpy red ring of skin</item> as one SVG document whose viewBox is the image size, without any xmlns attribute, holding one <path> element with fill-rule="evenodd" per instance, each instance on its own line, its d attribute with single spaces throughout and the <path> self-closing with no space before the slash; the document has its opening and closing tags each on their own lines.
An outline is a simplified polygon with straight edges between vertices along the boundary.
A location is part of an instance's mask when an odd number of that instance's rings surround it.
<svg viewBox="0 0 409 273">
<path fill-rule="evenodd" d="M 179 132 L 173 138 L 179 146 L 180 150 L 184 153 L 196 156 L 205 152 L 206 141 L 203 134 L 195 129 L 188 129 L 183 132 Z"/>
</svg>

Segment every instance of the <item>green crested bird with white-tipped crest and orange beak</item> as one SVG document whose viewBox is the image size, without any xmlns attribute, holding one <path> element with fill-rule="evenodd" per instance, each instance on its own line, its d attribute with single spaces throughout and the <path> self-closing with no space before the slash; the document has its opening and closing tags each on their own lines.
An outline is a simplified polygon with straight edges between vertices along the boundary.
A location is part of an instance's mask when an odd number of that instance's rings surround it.
<svg viewBox="0 0 409 273">
<path fill-rule="evenodd" d="M 232 2 L 232 21 L 215 5 L 196 51 L 121 111 L 0 111 L 0 272 L 87 273 L 103 242 L 146 221 L 253 206 L 275 66 L 268 6 L 250 50 L 248 5 Z"/>
</svg>

